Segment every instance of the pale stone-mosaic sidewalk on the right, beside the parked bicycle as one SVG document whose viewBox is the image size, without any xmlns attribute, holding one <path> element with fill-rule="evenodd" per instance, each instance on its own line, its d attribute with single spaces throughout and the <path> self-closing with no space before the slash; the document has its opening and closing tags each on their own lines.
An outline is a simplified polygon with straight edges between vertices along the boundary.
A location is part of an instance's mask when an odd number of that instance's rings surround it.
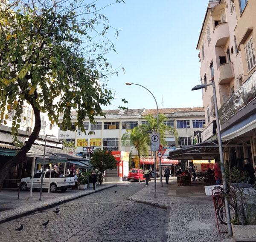
<svg viewBox="0 0 256 242">
<path fill-rule="evenodd" d="M 171 179 L 168 185 L 163 180 L 161 187 L 159 180 L 157 198 L 154 198 L 154 182 L 151 180 L 148 187 L 128 199 L 167 209 L 168 242 L 234 242 L 227 238 L 227 233 L 218 234 L 212 197 L 205 195 L 204 185 L 199 182 L 179 187 L 176 179 Z M 221 231 L 225 230 L 227 226 L 222 225 Z"/>
</svg>

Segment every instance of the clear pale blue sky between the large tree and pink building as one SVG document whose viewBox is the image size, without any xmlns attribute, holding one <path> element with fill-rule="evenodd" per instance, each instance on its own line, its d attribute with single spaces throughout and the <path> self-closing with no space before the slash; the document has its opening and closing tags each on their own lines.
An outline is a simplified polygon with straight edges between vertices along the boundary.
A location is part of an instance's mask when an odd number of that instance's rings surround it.
<svg viewBox="0 0 256 242">
<path fill-rule="evenodd" d="M 121 99 L 128 108 L 202 107 L 201 91 L 191 91 L 200 83 L 200 62 L 196 46 L 208 0 L 125 0 L 104 10 L 111 26 L 121 28 L 111 38 L 117 54 L 108 54 L 113 68 L 125 74 L 112 76 L 107 88 L 115 91 L 116 109 Z M 108 37 L 111 37 L 108 35 Z"/>
</svg>

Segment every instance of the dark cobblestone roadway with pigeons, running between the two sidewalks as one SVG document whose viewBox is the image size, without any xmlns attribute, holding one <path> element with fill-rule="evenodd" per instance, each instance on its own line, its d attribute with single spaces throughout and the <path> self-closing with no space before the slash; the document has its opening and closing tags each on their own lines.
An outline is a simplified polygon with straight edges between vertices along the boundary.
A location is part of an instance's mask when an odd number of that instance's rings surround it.
<svg viewBox="0 0 256 242">
<path fill-rule="evenodd" d="M 161 242 L 167 211 L 126 200 L 144 187 L 145 182 L 116 185 L 62 204 L 58 214 L 50 208 L 5 222 L 1 242 Z M 46 228 L 40 226 L 48 219 Z M 21 224 L 23 231 L 14 231 Z"/>
</svg>

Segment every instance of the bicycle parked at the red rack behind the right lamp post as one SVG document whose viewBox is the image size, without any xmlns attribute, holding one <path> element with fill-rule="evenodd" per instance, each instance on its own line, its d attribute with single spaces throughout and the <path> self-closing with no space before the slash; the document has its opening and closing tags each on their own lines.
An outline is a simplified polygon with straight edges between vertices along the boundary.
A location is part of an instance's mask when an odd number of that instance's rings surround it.
<svg viewBox="0 0 256 242">
<path fill-rule="evenodd" d="M 236 219 L 236 205 L 234 196 L 236 191 L 229 189 L 227 191 L 228 199 L 229 199 L 229 208 L 230 208 L 230 219 Z M 226 216 L 226 207 L 225 207 L 225 200 L 224 200 L 224 190 L 221 186 L 215 186 L 212 190 L 212 199 L 215 208 L 215 215 L 218 225 L 218 232 L 219 233 L 226 233 L 221 232 L 219 229 L 218 219 L 220 220 L 221 224 L 227 225 L 227 216 Z"/>
</svg>

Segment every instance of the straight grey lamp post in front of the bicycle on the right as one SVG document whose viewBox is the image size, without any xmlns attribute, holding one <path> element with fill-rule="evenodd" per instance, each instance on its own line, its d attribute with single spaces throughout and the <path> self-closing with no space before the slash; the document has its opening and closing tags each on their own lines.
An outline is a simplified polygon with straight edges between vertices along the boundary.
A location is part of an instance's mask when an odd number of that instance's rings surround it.
<svg viewBox="0 0 256 242">
<path fill-rule="evenodd" d="M 212 85 L 214 104 L 215 104 L 216 124 L 217 124 L 217 131 L 218 131 L 218 146 L 219 146 L 219 153 L 220 153 L 220 159 L 221 159 L 221 174 L 222 174 L 222 180 L 223 180 L 224 200 L 225 200 L 226 216 L 227 216 L 227 230 L 228 230 L 228 234 L 232 235 L 232 228 L 230 223 L 230 208 L 227 201 L 227 196 L 225 196 L 225 194 L 227 194 L 227 179 L 225 177 L 225 171 L 224 171 L 224 157 L 223 157 L 222 142 L 221 142 L 221 128 L 220 128 L 220 121 L 218 117 L 216 89 L 215 89 L 215 83 L 213 80 L 214 80 L 214 77 L 212 78 L 212 82 L 209 84 L 196 85 L 195 87 L 192 88 L 192 91 L 199 90 L 206 86 Z"/>
</svg>

